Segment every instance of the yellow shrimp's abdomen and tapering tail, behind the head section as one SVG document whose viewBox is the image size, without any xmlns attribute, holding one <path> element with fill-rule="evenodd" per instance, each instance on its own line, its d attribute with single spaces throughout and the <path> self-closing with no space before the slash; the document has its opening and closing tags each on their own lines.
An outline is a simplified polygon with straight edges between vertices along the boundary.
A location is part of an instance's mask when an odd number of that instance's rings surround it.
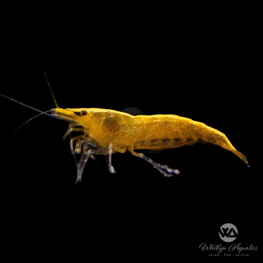
<svg viewBox="0 0 263 263">
<path fill-rule="evenodd" d="M 149 131 L 147 135 L 144 134 L 148 140 L 138 142 L 134 149 L 143 149 L 143 146 L 146 146 L 147 149 L 165 150 L 194 145 L 197 142 L 213 143 L 231 151 L 249 167 L 246 157 L 234 148 L 224 133 L 204 123 L 177 115 L 152 115 L 145 127 L 145 130 Z"/>
</svg>

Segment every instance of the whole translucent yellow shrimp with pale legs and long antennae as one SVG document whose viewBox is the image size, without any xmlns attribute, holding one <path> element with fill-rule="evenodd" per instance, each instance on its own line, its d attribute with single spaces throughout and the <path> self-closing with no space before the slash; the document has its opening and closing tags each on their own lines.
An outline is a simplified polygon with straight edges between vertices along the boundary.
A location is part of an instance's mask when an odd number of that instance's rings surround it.
<svg viewBox="0 0 263 263">
<path fill-rule="evenodd" d="M 48 83 L 49 85 L 49 83 Z M 50 88 L 50 86 L 49 86 Z M 143 153 L 135 150 L 161 151 L 179 148 L 195 143 L 212 143 L 227 149 L 238 156 L 249 167 L 246 157 L 237 151 L 222 132 L 204 123 L 178 115 L 130 115 L 111 109 L 100 108 L 59 108 L 53 92 L 56 108 L 46 112 L 32 108 L 5 95 L 2 97 L 13 100 L 28 108 L 37 110 L 57 119 L 69 122 L 68 130 L 63 136 L 70 137 L 70 151 L 74 155 L 77 167 L 77 180 L 81 181 L 84 167 L 89 158 L 105 155 L 110 173 L 115 173 L 112 166 L 113 153 L 125 153 L 127 150 L 154 166 L 164 176 L 179 174 L 177 169 L 157 163 Z M 38 115 L 37 115 L 38 116 Z M 72 134 L 75 136 L 72 136 Z M 77 161 L 75 155 L 80 155 Z"/>
</svg>

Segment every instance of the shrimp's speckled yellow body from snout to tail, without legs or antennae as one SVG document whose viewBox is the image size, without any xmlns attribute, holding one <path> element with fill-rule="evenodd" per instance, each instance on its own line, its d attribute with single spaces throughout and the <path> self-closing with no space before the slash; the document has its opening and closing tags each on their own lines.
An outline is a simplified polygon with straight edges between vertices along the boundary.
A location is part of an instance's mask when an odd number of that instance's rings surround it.
<svg viewBox="0 0 263 263">
<path fill-rule="evenodd" d="M 82 110 L 85 116 L 77 115 Z M 244 155 L 237 151 L 225 134 L 204 123 L 177 115 L 137 115 L 109 109 L 80 108 L 54 109 L 54 116 L 77 122 L 89 138 L 98 146 L 112 153 L 124 153 L 127 149 L 165 150 L 193 145 L 196 142 L 213 143 L 232 151 L 247 166 Z"/>
</svg>

